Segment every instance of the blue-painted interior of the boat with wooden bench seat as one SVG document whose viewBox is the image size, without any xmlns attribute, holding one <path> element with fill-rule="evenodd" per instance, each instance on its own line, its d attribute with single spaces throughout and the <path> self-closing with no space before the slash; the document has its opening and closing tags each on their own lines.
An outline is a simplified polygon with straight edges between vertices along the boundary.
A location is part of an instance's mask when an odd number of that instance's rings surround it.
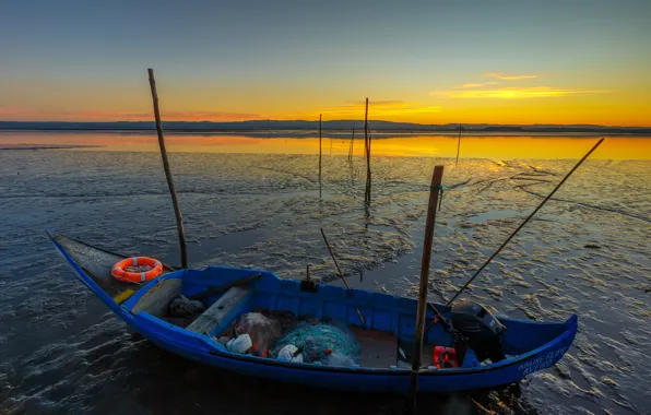
<svg viewBox="0 0 651 415">
<path fill-rule="evenodd" d="M 237 284 L 238 281 L 246 283 Z M 234 282 L 235 286 L 210 294 L 215 287 Z M 168 316 L 169 303 L 181 294 L 187 298 L 208 294 L 201 297 L 205 310 L 191 319 Z M 257 310 L 288 311 L 299 320 L 336 321 L 346 324 L 358 342 L 362 367 L 390 368 L 409 366 L 411 361 L 415 305 L 412 299 L 382 293 L 353 290 L 351 296 L 342 287 L 321 284 L 316 285 L 316 292 L 304 292 L 299 282 L 281 280 L 268 272 L 210 266 L 168 274 L 127 300 L 123 307 L 132 313 L 144 312 L 213 339 L 227 334 L 241 315 Z M 452 346 L 452 343 L 448 333 L 433 327 L 423 349 L 423 361 L 431 360 L 434 344 Z"/>
</svg>

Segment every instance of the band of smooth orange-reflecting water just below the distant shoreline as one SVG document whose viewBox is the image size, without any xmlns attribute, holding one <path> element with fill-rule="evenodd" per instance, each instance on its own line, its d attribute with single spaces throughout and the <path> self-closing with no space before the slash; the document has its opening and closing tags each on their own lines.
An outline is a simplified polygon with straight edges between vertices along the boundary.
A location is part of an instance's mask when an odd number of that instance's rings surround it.
<svg viewBox="0 0 651 415">
<path fill-rule="evenodd" d="M 166 133 L 169 152 L 191 153 L 264 153 L 318 154 L 319 138 L 309 133 L 276 132 L 277 135 L 250 137 L 241 134 L 179 134 Z M 305 137 L 296 137 L 301 134 Z M 347 134 L 347 133 L 346 133 Z M 353 153 L 362 157 L 364 146 L 357 141 L 351 147 L 350 137 L 326 134 L 331 140 L 331 154 Z M 461 158 L 578 158 L 594 135 L 463 135 Z M 95 145 L 103 151 L 157 152 L 153 133 L 133 132 L 0 132 L 0 147 L 15 144 L 32 145 Z M 452 135 L 387 135 L 375 137 L 372 156 L 436 156 L 455 157 L 458 137 Z M 604 142 L 592 158 L 651 159 L 650 137 L 613 137 Z"/>
</svg>

